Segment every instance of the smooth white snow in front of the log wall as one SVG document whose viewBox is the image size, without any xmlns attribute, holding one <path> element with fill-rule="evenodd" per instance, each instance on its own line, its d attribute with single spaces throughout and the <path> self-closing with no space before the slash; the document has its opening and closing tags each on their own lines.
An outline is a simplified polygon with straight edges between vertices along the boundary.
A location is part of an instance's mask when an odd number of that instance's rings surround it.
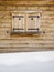
<svg viewBox="0 0 54 72">
<path fill-rule="evenodd" d="M 54 72 L 54 51 L 0 54 L 0 72 Z"/>
</svg>

